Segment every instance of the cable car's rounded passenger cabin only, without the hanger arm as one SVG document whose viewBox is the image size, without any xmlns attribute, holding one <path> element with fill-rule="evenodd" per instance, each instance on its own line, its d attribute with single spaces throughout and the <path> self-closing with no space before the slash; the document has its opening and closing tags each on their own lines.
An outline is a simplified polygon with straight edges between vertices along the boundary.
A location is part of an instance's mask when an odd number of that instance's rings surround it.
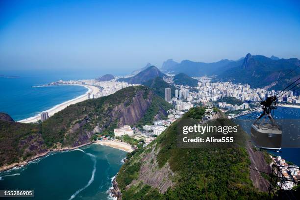
<svg viewBox="0 0 300 200">
<path fill-rule="evenodd" d="M 259 149 L 280 150 L 282 130 L 268 123 L 251 125 L 251 141 Z"/>
</svg>

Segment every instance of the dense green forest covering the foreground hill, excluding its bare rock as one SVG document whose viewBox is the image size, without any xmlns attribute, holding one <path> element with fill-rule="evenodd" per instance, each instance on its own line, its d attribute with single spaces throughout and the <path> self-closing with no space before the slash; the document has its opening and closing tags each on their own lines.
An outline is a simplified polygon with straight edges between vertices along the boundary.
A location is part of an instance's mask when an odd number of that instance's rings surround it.
<svg viewBox="0 0 300 200">
<path fill-rule="evenodd" d="M 182 119 L 198 119 L 204 114 L 203 111 L 203 108 L 191 109 Z M 248 168 L 250 160 L 245 147 L 177 148 L 176 134 L 180 120 L 159 135 L 150 147 L 134 154 L 121 168 L 117 181 L 122 190 L 122 199 L 151 199 L 151 195 L 162 200 L 267 199 L 266 193 L 259 192 L 252 185 Z M 126 187 L 133 183 L 132 180 L 137 179 L 141 161 L 146 162 L 144 156 L 150 151 L 149 148 L 155 148 L 157 151 L 156 170 L 168 164 L 175 173 L 172 178 L 174 187 L 170 187 L 165 194 L 160 194 L 156 188 L 143 182 Z"/>
</svg>

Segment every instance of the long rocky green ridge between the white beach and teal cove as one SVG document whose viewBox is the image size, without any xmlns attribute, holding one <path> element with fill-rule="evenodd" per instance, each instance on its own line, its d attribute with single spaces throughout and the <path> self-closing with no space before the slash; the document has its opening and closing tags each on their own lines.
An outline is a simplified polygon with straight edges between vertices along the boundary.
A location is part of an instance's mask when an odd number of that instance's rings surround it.
<svg viewBox="0 0 300 200">
<path fill-rule="evenodd" d="M 72 104 L 40 124 L 6 120 L 9 118 L 5 115 L 0 118 L 0 166 L 22 162 L 49 150 L 87 144 L 94 134 L 113 135 L 113 128 L 123 125 L 152 123 L 164 117 L 170 107 L 149 88 L 132 86 L 106 97 Z"/>
</svg>

